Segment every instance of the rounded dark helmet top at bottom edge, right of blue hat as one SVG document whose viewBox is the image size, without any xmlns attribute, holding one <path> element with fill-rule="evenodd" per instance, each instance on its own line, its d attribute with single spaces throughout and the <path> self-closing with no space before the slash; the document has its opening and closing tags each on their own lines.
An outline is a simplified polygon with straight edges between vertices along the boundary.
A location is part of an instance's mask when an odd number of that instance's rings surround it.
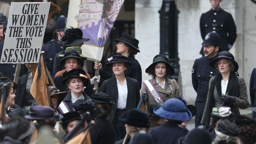
<svg viewBox="0 0 256 144">
<path fill-rule="evenodd" d="M 183 139 L 185 144 L 211 144 L 210 133 L 203 126 L 195 127 Z"/>
</svg>

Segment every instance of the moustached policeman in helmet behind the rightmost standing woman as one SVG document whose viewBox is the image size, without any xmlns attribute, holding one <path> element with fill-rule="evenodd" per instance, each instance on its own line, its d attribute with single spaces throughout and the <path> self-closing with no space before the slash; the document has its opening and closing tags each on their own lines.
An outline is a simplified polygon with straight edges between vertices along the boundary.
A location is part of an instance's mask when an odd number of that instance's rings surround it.
<svg viewBox="0 0 256 144">
<path fill-rule="evenodd" d="M 208 33 L 202 42 L 204 47 L 204 57 L 196 59 L 192 67 L 192 84 L 197 92 L 195 107 L 197 113 L 195 115 L 195 126 L 200 125 L 201 118 L 204 112 L 206 97 L 209 90 L 209 80 L 216 76 L 218 71 L 209 65 L 209 61 L 214 59 L 221 50 L 220 35 L 215 31 Z"/>
</svg>

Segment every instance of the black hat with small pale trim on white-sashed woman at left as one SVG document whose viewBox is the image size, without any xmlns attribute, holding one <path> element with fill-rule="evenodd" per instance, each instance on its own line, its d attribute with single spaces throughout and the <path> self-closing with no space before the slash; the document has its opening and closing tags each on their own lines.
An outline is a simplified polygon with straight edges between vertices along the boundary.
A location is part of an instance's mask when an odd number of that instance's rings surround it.
<svg viewBox="0 0 256 144">
<path fill-rule="evenodd" d="M 62 74 L 63 80 L 62 83 L 65 85 L 69 78 L 80 78 L 83 80 L 83 85 L 87 85 L 89 83 L 89 79 L 86 76 L 86 72 L 81 68 L 74 68 L 70 71 L 66 71 Z"/>
</svg>

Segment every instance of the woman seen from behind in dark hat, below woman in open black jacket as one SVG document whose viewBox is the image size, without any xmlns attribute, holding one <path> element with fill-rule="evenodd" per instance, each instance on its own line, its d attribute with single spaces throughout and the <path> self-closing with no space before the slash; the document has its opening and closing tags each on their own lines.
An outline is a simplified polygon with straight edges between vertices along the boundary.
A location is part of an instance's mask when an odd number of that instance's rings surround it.
<svg viewBox="0 0 256 144">
<path fill-rule="evenodd" d="M 115 103 L 111 102 L 109 95 L 104 92 L 96 92 L 91 95 L 91 98 L 102 113 L 95 119 L 95 124 L 90 129 L 91 142 L 92 144 L 114 144 L 115 129 L 108 117 Z"/>
</svg>

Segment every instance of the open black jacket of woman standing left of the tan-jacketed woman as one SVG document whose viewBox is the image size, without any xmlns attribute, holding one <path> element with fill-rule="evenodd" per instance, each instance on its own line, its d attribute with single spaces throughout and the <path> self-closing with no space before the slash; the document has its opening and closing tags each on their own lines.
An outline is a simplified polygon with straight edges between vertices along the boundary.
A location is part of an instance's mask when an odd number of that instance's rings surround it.
<svg viewBox="0 0 256 144">
<path fill-rule="evenodd" d="M 127 101 L 126 101 L 126 111 L 129 111 L 130 109 L 136 108 L 140 101 L 140 88 L 138 81 L 129 78 L 126 76 L 126 83 L 127 83 Z M 116 83 L 116 77 L 112 77 L 108 80 L 105 80 L 102 83 L 102 86 L 99 89 L 99 92 L 105 92 L 111 97 L 111 101 L 115 103 L 115 105 L 112 108 L 112 111 L 109 115 L 109 121 L 112 123 L 116 107 L 118 103 L 118 88 Z"/>
</svg>

